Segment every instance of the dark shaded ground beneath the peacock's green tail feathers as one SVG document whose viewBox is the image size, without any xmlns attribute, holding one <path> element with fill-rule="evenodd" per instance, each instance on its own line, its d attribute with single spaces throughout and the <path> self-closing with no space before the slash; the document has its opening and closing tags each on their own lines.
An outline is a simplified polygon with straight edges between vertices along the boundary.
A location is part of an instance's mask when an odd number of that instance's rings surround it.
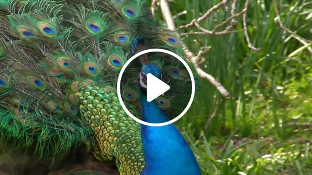
<svg viewBox="0 0 312 175">
<path fill-rule="evenodd" d="M 0 157 L 5 155 L 0 155 Z M 53 167 L 32 155 L 13 154 L 0 164 L 0 175 L 119 175 L 115 161 L 98 162 L 79 148 Z"/>
</svg>

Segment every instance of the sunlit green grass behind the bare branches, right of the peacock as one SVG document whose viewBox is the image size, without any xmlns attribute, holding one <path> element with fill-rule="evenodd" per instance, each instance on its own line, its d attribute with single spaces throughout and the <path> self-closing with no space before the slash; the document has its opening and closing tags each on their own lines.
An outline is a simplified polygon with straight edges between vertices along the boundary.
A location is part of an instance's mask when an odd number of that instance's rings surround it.
<svg viewBox="0 0 312 175">
<path fill-rule="evenodd" d="M 170 8 L 176 25 L 181 26 L 218 2 L 172 0 Z M 237 11 L 243 9 L 244 2 L 239 1 Z M 283 24 L 312 40 L 312 2 L 278 0 L 278 5 Z M 230 16 L 228 7 L 201 26 L 212 30 Z M 156 15 L 162 19 L 159 7 Z M 200 80 L 191 109 L 177 122 L 204 175 L 312 174 L 312 127 L 304 125 L 312 124 L 312 54 L 281 30 L 274 18 L 272 0 L 250 0 L 248 32 L 252 44 L 261 48 L 258 52 L 248 48 L 243 33 L 182 37 L 194 53 L 202 46 L 212 46 L 204 55 L 202 68 L 233 96 L 226 100 Z M 236 29 L 242 29 L 241 18 Z M 178 32 L 187 31 L 196 29 Z M 215 107 L 215 118 L 195 145 Z"/>
</svg>

